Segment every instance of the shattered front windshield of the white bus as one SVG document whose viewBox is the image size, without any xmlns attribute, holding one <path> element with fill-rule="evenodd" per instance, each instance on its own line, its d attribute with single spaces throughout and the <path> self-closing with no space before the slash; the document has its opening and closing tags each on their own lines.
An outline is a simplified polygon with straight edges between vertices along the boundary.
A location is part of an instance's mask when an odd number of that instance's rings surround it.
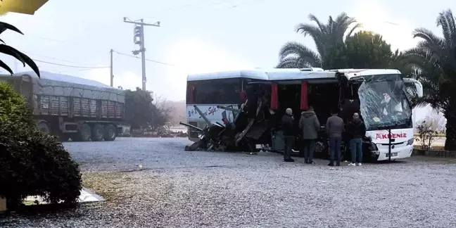
<svg viewBox="0 0 456 228">
<path fill-rule="evenodd" d="M 400 75 L 365 77 L 358 89 L 367 130 L 412 128 L 412 108 Z"/>
</svg>

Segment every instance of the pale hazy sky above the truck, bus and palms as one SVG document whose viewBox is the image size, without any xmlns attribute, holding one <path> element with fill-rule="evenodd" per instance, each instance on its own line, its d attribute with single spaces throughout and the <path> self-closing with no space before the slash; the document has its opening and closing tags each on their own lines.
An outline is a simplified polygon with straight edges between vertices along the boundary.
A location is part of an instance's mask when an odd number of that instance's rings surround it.
<svg viewBox="0 0 456 228">
<path fill-rule="evenodd" d="M 123 17 L 161 27 L 145 28 L 146 58 L 175 66 L 146 62 L 147 89 L 170 100 L 185 98 L 186 75 L 218 70 L 273 68 L 277 53 L 288 41 L 315 47 L 310 38 L 293 31 L 313 13 L 326 22 L 341 11 L 379 32 L 394 48 L 407 49 L 415 27 L 437 34 L 436 17 L 456 1 L 419 4 L 411 0 L 296 1 L 296 0 L 50 0 L 35 15 L 10 13 L 2 18 L 22 30 L 2 34 L 6 44 L 30 57 L 78 66 L 108 66 L 109 50 L 131 54 L 133 25 Z M 392 25 L 395 23 L 396 25 Z M 5 59 L 2 57 L 2 59 Z M 6 61 L 14 67 L 13 61 Z M 69 68 L 37 63 L 41 70 L 86 77 L 109 84 L 109 68 Z M 141 61 L 114 54 L 114 85 L 141 87 Z M 18 65 L 19 71 L 23 69 Z M 14 68 L 13 68 L 14 70 Z"/>
</svg>

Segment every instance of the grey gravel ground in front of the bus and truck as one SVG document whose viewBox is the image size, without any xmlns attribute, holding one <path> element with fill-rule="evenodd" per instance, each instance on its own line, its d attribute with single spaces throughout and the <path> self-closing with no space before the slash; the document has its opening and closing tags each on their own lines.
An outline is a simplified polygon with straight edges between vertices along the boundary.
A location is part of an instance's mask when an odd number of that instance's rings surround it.
<svg viewBox="0 0 456 228">
<path fill-rule="evenodd" d="M 279 154 L 186 152 L 186 139 L 67 143 L 106 198 L 0 227 L 456 227 L 455 160 L 331 168 Z"/>
</svg>

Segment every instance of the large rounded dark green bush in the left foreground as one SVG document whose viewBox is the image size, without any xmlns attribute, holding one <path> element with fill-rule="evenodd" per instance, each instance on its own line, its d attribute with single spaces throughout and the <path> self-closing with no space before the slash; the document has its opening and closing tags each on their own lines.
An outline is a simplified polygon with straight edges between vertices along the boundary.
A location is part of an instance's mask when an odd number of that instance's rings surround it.
<svg viewBox="0 0 456 228">
<path fill-rule="evenodd" d="M 81 174 L 62 144 L 37 129 L 25 99 L 0 83 L 0 196 L 15 209 L 27 196 L 73 204 Z"/>
</svg>

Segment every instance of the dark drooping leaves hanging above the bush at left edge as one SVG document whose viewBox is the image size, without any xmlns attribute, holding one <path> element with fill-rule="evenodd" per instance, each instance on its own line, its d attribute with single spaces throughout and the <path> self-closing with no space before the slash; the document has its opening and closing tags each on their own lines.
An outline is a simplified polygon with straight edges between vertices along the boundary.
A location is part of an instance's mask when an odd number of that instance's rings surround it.
<svg viewBox="0 0 456 228">
<path fill-rule="evenodd" d="M 23 34 L 22 32 L 20 32 L 20 30 L 18 30 L 17 27 L 14 27 L 13 25 L 10 25 L 8 23 L 0 22 L 0 34 L 5 32 L 6 30 L 13 30 L 14 32 L 18 32 L 20 34 Z M 5 43 L 1 39 L 0 39 L 0 42 Z M 39 77 L 39 70 L 38 70 L 37 64 L 35 64 L 34 61 L 32 61 L 32 59 L 30 57 L 25 55 L 25 53 L 22 53 L 22 52 L 18 51 L 17 49 L 13 48 L 12 46 L 8 46 L 6 44 L 0 44 L 0 53 L 4 53 L 4 54 L 6 54 L 8 56 L 13 56 L 18 61 L 23 63 L 24 67 L 25 67 L 25 64 L 29 65 L 30 68 L 32 68 L 32 70 Z M 13 70 L 11 70 L 11 68 L 8 67 L 8 65 L 6 65 L 6 63 L 4 63 L 4 61 L 1 61 L 1 60 L 0 60 L 0 68 L 4 68 L 11 75 L 13 75 Z"/>
</svg>

